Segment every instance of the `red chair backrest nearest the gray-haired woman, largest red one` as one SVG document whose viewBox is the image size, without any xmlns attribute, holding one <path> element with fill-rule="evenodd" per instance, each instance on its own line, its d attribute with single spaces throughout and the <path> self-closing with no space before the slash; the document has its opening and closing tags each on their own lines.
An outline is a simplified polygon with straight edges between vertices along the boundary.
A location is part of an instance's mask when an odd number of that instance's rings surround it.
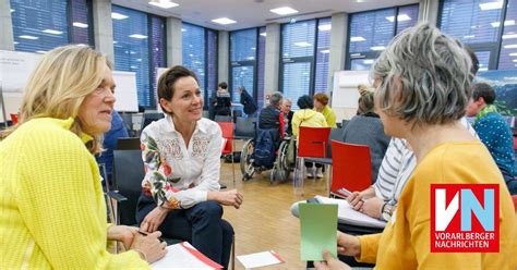
<svg viewBox="0 0 517 270">
<path fill-rule="evenodd" d="M 354 192 L 372 185 L 372 164 L 368 146 L 333 140 L 332 148 L 334 155 L 330 194 L 339 195 L 336 191 L 341 187 Z"/>
</svg>

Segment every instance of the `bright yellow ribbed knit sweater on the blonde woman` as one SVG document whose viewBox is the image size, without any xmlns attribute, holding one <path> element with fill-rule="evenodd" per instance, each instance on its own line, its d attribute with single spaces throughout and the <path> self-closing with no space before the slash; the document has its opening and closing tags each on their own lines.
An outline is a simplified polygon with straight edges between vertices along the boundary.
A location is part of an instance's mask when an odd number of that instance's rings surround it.
<svg viewBox="0 0 517 270">
<path fill-rule="evenodd" d="M 0 269 L 147 269 L 135 251 L 106 250 L 92 137 L 72 123 L 32 120 L 0 143 Z"/>
</svg>

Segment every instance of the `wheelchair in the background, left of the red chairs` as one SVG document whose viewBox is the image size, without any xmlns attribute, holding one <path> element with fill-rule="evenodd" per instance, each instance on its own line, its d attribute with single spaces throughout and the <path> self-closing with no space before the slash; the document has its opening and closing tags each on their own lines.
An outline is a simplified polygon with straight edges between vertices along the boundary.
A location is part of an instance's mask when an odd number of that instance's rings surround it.
<svg viewBox="0 0 517 270">
<path fill-rule="evenodd" d="M 293 138 L 292 138 L 293 139 Z M 289 174 L 292 170 L 292 165 L 287 160 L 287 151 L 290 137 L 284 137 L 276 151 L 276 158 L 273 164 L 268 167 L 256 165 L 253 158 L 253 149 L 255 145 L 255 138 L 251 138 L 244 143 L 241 151 L 240 169 L 242 173 L 242 181 L 249 181 L 253 175 L 261 174 L 264 171 L 270 170 L 269 182 L 285 182 L 289 179 Z"/>
</svg>

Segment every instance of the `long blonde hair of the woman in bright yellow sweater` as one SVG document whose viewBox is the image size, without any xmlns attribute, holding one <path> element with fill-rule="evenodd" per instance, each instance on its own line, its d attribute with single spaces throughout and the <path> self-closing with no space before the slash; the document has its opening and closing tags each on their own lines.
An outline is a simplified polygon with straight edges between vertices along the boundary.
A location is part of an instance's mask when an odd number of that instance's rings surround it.
<svg viewBox="0 0 517 270">
<path fill-rule="evenodd" d="M 88 47 L 63 46 L 47 52 L 28 77 L 17 125 L 7 130 L 1 137 L 37 118 L 73 118 L 71 131 L 81 135 L 83 126 L 77 118 L 81 103 L 103 82 L 105 64 L 111 68 L 103 54 Z M 101 136 L 95 136 L 88 143 L 92 154 L 100 151 L 101 139 Z"/>
</svg>

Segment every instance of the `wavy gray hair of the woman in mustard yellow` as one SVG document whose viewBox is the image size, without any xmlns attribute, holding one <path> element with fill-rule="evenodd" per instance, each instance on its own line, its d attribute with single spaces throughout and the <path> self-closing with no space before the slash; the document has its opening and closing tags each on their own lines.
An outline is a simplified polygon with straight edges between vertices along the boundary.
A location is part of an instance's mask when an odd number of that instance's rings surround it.
<svg viewBox="0 0 517 270">
<path fill-rule="evenodd" d="M 387 115 L 416 125 L 445 124 L 465 115 L 471 60 L 460 42 L 426 23 L 395 37 L 371 76 L 382 79 L 376 103 Z"/>
</svg>

